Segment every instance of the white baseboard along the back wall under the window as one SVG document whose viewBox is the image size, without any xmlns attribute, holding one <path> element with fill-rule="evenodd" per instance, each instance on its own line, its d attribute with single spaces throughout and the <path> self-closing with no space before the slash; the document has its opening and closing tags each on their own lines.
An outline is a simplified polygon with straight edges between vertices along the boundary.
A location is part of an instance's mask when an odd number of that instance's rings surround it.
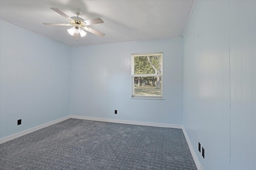
<svg viewBox="0 0 256 170">
<path fill-rule="evenodd" d="M 173 124 L 167 124 L 167 123 L 150 123 L 150 122 L 141 122 L 141 121 L 106 119 L 106 118 L 86 117 L 86 116 L 77 116 L 77 115 L 71 115 L 71 118 L 94 120 L 94 121 L 105 121 L 105 122 L 112 122 L 112 123 L 124 123 L 124 124 L 130 124 L 130 125 L 143 125 L 143 126 L 154 126 L 154 127 L 171 127 L 171 128 L 176 128 L 176 129 L 182 129 L 181 125 L 173 125 Z"/>
</svg>

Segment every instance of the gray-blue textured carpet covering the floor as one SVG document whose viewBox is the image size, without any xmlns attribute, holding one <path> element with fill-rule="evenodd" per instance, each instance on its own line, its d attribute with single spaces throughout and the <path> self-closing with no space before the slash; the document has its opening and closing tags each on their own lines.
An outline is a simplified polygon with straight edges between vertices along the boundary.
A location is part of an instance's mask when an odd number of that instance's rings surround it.
<svg viewBox="0 0 256 170">
<path fill-rule="evenodd" d="M 0 145 L 1 170 L 196 170 L 182 129 L 68 119 Z"/>
</svg>

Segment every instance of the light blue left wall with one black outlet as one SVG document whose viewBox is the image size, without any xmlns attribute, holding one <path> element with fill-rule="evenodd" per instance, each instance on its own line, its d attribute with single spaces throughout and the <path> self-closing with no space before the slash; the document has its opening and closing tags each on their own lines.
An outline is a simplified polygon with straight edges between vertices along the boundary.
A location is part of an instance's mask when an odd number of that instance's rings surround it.
<svg viewBox="0 0 256 170">
<path fill-rule="evenodd" d="M 70 47 L 3 21 L 0 36 L 0 138 L 70 115 Z"/>
</svg>

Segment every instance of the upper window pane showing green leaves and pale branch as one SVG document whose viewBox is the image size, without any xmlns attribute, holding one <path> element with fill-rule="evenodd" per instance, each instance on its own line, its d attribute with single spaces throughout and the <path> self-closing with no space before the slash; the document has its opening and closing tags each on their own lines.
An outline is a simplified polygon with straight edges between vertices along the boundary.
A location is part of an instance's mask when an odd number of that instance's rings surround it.
<svg viewBox="0 0 256 170">
<path fill-rule="evenodd" d="M 162 74 L 162 55 L 134 56 L 134 74 Z"/>
</svg>

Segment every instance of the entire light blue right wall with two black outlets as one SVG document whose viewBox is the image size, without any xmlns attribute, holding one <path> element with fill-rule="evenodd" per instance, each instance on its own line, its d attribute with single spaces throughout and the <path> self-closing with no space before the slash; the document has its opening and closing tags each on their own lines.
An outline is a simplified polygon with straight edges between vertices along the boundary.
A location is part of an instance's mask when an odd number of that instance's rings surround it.
<svg viewBox="0 0 256 170">
<path fill-rule="evenodd" d="M 204 170 L 256 168 L 255 9 L 198 0 L 184 35 L 183 125 Z"/>
</svg>

